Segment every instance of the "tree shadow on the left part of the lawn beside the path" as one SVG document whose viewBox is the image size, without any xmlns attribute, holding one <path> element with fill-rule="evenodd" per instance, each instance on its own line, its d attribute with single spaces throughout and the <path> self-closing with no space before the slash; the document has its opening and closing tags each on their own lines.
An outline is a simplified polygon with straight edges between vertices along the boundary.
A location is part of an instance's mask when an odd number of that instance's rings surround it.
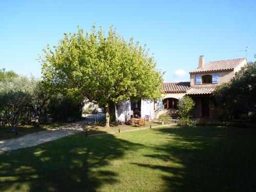
<svg viewBox="0 0 256 192">
<path fill-rule="evenodd" d="M 0 191 L 95 191 L 119 182 L 118 174 L 104 166 L 139 147 L 113 135 L 80 133 L 0 154 Z"/>
</svg>

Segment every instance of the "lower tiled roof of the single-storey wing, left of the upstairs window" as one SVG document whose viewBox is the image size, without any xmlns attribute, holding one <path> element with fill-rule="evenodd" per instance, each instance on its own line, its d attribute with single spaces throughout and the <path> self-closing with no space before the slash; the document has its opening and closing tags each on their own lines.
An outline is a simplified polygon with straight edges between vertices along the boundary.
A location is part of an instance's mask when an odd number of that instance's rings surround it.
<svg viewBox="0 0 256 192">
<path fill-rule="evenodd" d="M 190 89 L 190 82 L 163 82 L 165 93 L 186 93 Z"/>
</svg>

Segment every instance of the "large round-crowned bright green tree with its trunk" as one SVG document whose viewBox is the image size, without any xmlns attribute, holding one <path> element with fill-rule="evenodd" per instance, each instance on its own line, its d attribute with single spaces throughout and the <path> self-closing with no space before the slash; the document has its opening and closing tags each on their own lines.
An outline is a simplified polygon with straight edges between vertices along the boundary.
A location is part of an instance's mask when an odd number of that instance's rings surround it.
<svg viewBox="0 0 256 192">
<path fill-rule="evenodd" d="M 154 57 L 113 27 L 107 34 L 95 26 L 86 35 L 79 28 L 77 33 L 64 34 L 53 49 L 48 45 L 40 60 L 45 85 L 104 105 L 106 126 L 111 102 L 161 96 L 163 79 Z"/>
</svg>

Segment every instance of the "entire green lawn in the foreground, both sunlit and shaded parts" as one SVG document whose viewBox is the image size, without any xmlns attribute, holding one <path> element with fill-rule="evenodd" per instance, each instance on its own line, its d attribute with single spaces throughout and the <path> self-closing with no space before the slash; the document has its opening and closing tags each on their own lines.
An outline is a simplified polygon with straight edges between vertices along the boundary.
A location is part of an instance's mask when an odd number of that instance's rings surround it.
<svg viewBox="0 0 256 192">
<path fill-rule="evenodd" d="M 0 154 L 0 191 L 255 191 L 256 130 L 72 135 Z"/>
</svg>

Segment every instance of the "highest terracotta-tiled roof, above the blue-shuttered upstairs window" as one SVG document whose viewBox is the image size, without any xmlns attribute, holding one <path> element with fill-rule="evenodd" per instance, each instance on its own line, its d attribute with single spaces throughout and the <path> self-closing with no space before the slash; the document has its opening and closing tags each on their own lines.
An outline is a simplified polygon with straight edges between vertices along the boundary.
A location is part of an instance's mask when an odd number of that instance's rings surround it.
<svg viewBox="0 0 256 192">
<path fill-rule="evenodd" d="M 208 73 L 208 72 L 218 72 L 218 71 L 232 71 L 244 60 L 246 60 L 246 58 L 210 61 L 210 62 L 207 62 L 204 65 L 204 67 L 197 68 L 189 73 L 195 74 L 195 73 Z"/>
</svg>

